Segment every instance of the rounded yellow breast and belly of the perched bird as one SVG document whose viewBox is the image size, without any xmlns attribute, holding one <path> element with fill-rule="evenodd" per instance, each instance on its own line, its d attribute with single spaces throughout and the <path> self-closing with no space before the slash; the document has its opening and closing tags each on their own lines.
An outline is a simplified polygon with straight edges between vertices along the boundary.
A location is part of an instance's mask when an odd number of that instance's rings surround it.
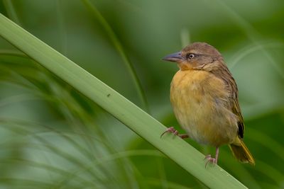
<svg viewBox="0 0 284 189">
<path fill-rule="evenodd" d="M 170 86 L 175 117 L 192 139 L 219 147 L 237 137 L 237 118 L 228 108 L 224 81 L 207 71 L 178 71 Z"/>
</svg>

